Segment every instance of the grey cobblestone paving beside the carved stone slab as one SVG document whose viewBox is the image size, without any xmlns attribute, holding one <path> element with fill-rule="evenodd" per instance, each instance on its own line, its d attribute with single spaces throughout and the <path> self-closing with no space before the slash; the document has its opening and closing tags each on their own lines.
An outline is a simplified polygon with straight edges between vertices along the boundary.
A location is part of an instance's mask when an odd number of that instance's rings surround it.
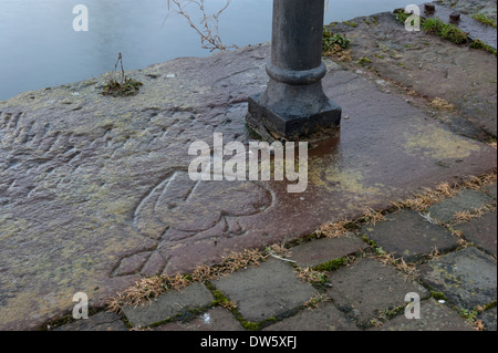
<svg viewBox="0 0 498 353">
<path fill-rule="evenodd" d="M 496 184 L 473 195 L 491 197 L 490 207 L 496 208 L 496 195 L 489 190 L 496 190 Z M 453 198 L 452 207 L 461 211 L 467 199 Z M 157 331 L 496 331 L 496 210 L 459 225 L 468 239 L 465 243 L 449 233 L 449 225 L 429 222 L 407 209 L 395 211 L 343 237 L 303 241 L 291 247 L 286 259 L 271 258 L 209 281 L 209 289 L 191 284 L 145 307 L 125 307 L 121 315 L 101 312 L 56 330 L 125 330 L 126 322 L 127 329 Z M 409 259 L 417 270 L 415 278 L 385 261 L 385 251 Z M 320 269 L 347 258 L 330 271 L 322 270 L 325 280 L 320 284 L 298 279 L 297 269 Z M 215 302 L 219 293 L 236 307 Z M 421 300 L 419 318 L 405 315 L 408 293 Z"/>
</svg>

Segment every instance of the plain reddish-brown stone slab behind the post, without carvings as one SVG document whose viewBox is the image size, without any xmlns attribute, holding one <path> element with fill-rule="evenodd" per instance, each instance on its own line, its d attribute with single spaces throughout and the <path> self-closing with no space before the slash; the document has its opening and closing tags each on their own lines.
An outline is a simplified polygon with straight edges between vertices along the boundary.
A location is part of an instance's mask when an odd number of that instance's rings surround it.
<svg viewBox="0 0 498 353">
<path fill-rule="evenodd" d="M 471 6 L 468 9 L 478 11 Z M 414 92 L 409 101 L 416 102 L 415 96 L 429 101 L 440 97 L 453 104 L 454 110 L 436 108 L 428 114 L 458 134 L 484 139 L 489 135 L 496 137 L 495 55 L 456 45 L 424 31 L 408 32 L 390 12 L 351 22 L 354 27 L 347 23 L 330 27 L 332 32 L 344 33 L 352 40 L 353 61 L 345 66 L 357 69 L 356 62 L 367 58 L 370 62 L 362 70 L 374 71 L 381 79 L 405 87 L 406 93 Z"/>
</svg>

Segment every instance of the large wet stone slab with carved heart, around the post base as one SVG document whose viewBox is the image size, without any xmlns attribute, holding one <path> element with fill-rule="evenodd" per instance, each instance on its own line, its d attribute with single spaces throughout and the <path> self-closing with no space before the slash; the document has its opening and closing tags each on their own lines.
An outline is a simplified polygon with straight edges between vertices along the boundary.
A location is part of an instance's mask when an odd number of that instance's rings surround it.
<svg viewBox="0 0 498 353">
<path fill-rule="evenodd" d="M 496 149 L 329 66 L 324 91 L 347 118 L 309 149 L 303 194 L 187 179 L 193 142 L 252 138 L 247 98 L 267 84 L 268 58 L 257 45 L 129 72 L 144 86 L 125 98 L 101 94 L 104 75 L 0 102 L 0 329 L 37 329 L 79 291 L 101 307 L 142 276 L 191 271 L 496 167 Z"/>
</svg>

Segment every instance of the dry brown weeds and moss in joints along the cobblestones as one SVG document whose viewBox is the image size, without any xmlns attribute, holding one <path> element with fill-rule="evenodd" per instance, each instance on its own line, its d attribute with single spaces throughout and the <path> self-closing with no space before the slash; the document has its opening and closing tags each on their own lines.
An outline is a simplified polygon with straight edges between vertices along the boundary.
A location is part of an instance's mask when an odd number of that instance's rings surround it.
<svg viewBox="0 0 498 353">
<path fill-rule="evenodd" d="M 187 274 L 176 274 L 175 277 L 158 276 L 148 279 L 142 279 L 135 283 L 135 287 L 122 293 L 118 293 L 116 298 L 113 298 L 107 304 L 107 310 L 111 312 L 121 313 L 122 308 L 125 305 L 136 307 L 146 304 L 147 302 L 152 301 L 153 299 L 157 298 L 159 294 L 168 290 L 180 290 L 189 285 L 190 283 L 204 282 L 205 285 L 214 294 L 215 302 L 212 303 L 212 305 L 220 305 L 225 309 L 230 310 L 236 316 L 236 319 L 247 330 L 260 330 L 271 324 L 277 319 L 270 318 L 259 323 L 246 322 L 237 310 L 237 303 L 230 301 L 220 291 L 216 290 L 210 284 L 209 281 L 212 279 L 217 279 L 221 276 L 234 273 L 247 267 L 257 267 L 261 262 L 266 261 L 270 256 L 274 256 L 277 258 L 286 260 L 286 257 L 289 256 L 289 249 L 291 249 L 293 246 L 301 243 L 302 241 L 313 241 L 314 239 L 323 237 L 330 238 L 344 237 L 351 231 L 360 229 L 362 225 L 376 225 L 380 221 L 385 221 L 387 214 L 395 212 L 405 208 L 411 208 L 417 211 L 424 211 L 432 205 L 440 203 L 447 197 L 455 197 L 456 195 L 458 195 L 459 191 L 464 189 L 471 188 L 474 190 L 484 190 L 486 186 L 496 183 L 496 180 L 497 180 L 497 173 L 496 170 L 492 170 L 480 177 L 470 177 L 469 179 L 464 180 L 458 185 L 442 183 L 437 185 L 434 189 L 425 189 L 424 193 L 416 195 L 413 198 L 392 203 L 393 207 L 391 207 L 388 210 L 381 211 L 366 208 L 364 214 L 355 220 L 343 219 L 334 224 L 324 225 L 320 227 L 311 236 L 303 237 L 301 238 L 301 240 L 299 239 L 293 240 L 286 245 L 273 245 L 271 247 L 267 247 L 263 251 L 256 249 L 246 249 L 242 252 L 231 252 L 224 258 L 224 261 L 220 264 L 211 267 L 208 266 L 198 267 L 191 273 Z M 448 229 L 450 229 L 452 232 L 454 232 L 455 235 L 458 235 L 458 231 L 453 230 L 452 227 L 448 226 Z M 357 259 L 361 258 L 372 257 L 375 258 L 377 261 L 383 262 L 384 264 L 394 266 L 398 271 L 401 271 L 405 276 L 405 279 L 407 281 L 418 281 L 419 284 L 427 287 L 427 284 L 424 284 L 418 280 L 416 266 L 426 261 L 427 259 L 442 256 L 442 253 L 437 249 L 434 249 L 434 251 L 430 255 L 427 255 L 425 260 L 422 259 L 417 262 L 408 264 L 403 260 L 403 258 L 395 259 L 393 255 L 386 253 L 374 241 L 366 238 L 362 239 L 371 246 L 370 249 L 361 250 L 352 256 L 334 259 L 326 263 L 315 266 L 313 268 L 300 269 L 294 266 L 297 277 L 303 281 L 310 282 L 317 289 L 323 290 L 324 285 L 326 287 L 326 284 L 330 284 L 328 283 L 326 277 L 328 271 L 333 271 L 344 266 L 352 266 Z M 460 247 L 458 247 L 458 249 L 461 249 L 463 247 L 467 246 L 470 245 L 466 241 L 463 241 L 460 243 Z M 433 297 L 436 300 L 445 300 L 446 298 L 444 293 L 436 292 L 433 289 L 429 289 L 429 292 L 430 297 Z M 321 293 L 319 292 L 317 297 L 310 298 L 310 300 L 303 303 L 301 309 L 315 308 L 320 302 L 325 300 L 329 301 L 330 298 L 325 297 L 326 295 L 324 295 L 323 292 Z M 488 304 L 487 307 L 489 305 L 492 305 L 492 303 Z M 487 307 L 486 309 L 488 309 Z M 366 326 L 377 326 L 382 324 L 382 322 L 385 322 L 386 320 L 400 314 L 403 308 L 404 307 L 397 307 L 394 309 L 386 310 L 384 312 L 381 312 L 377 318 L 372 319 L 370 323 L 359 323 L 359 324 L 361 325 L 366 324 Z M 453 309 L 457 310 L 456 307 Z M 481 322 L 479 320 L 475 320 L 474 314 L 469 315 L 468 312 L 466 314 L 463 314 L 460 312 L 460 314 L 466 319 L 470 318 L 471 320 L 469 319 L 468 321 L 471 322 L 476 326 L 476 329 L 478 330 L 481 329 Z"/>
</svg>

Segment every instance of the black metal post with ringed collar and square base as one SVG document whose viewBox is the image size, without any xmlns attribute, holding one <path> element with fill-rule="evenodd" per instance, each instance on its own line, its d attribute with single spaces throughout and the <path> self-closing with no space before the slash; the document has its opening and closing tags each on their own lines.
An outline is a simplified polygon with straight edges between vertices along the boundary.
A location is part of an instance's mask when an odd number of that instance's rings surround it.
<svg viewBox="0 0 498 353">
<path fill-rule="evenodd" d="M 272 138 L 298 141 L 340 125 L 341 107 L 322 87 L 324 0 L 273 0 L 270 76 L 249 98 L 247 123 Z"/>
</svg>

